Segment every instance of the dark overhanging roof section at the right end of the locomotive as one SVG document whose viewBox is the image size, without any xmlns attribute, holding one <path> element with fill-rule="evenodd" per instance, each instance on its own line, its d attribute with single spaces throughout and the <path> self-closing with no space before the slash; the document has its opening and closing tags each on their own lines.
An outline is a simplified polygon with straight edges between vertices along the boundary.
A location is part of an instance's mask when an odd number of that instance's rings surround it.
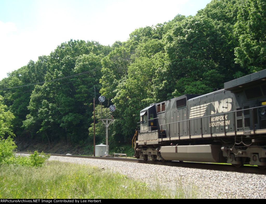
<svg viewBox="0 0 266 204">
<path fill-rule="evenodd" d="M 226 82 L 225 90 L 234 91 L 266 80 L 266 69 L 259 72 Z"/>
</svg>

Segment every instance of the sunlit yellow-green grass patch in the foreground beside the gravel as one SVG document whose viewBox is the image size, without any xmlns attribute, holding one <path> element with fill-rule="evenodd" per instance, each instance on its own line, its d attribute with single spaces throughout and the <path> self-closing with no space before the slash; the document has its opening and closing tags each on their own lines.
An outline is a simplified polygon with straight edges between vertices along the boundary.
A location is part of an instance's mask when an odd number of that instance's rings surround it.
<svg viewBox="0 0 266 204">
<path fill-rule="evenodd" d="M 177 187 L 176 187 L 177 186 Z M 0 167 L 0 198 L 197 198 L 180 179 L 148 186 L 98 167 L 46 161 L 40 168 Z"/>
</svg>

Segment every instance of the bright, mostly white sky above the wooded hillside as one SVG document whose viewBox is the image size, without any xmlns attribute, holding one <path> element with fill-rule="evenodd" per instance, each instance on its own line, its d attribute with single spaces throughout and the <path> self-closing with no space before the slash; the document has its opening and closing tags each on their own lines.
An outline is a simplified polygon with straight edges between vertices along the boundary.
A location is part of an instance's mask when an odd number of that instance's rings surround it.
<svg viewBox="0 0 266 204">
<path fill-rule="evenodd" d="M 0 0 L 0 80 L 70 39 L 113 45 L 211 0 Z"/>
</svg>

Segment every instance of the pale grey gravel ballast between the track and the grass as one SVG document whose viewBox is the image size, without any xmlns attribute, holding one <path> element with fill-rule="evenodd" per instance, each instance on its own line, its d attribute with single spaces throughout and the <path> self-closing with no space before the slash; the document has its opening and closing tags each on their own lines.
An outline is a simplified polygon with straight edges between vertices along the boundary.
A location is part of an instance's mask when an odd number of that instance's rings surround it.
<svg viewBox="0 0 266 204">
<path fill-rule="evenodd" d="M 129 178 L 175 189 L 196 189 L 198 198 L 266 198 L 266 175 L 174 167 L 105 159 L 51 156 L 50 161 L 97 166 Z"/>
</svg>

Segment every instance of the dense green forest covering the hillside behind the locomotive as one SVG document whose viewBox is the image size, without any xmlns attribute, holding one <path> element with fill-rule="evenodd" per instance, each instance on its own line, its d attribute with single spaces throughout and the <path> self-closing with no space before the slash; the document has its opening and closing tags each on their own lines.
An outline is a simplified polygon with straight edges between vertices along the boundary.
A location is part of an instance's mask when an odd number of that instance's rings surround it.
<svg viewBox="0 0 266 204">
<path fill-rule="evenodd" d="M 266 64 L 266 1 L 213 0 L 195 16 L 137 28 L 110 46 L 70 40 L 8 74 L 0 94 L 14 133 L 48 145 L 92 145 L 93 98 L 114 104 L 114 146 L 130 144 L 139 111 L 184 94 L 206 94 Z M 17 88 L 14 88 L 17 87 Z M 98 100 L 96 100 L 98 101 Z M 96 104 L 97 142 L 105 140 Z M 106 110 L 106 109 L 104 109 Z M 90 148 L 89 148 L 90 149 Z"/>
</svg>

